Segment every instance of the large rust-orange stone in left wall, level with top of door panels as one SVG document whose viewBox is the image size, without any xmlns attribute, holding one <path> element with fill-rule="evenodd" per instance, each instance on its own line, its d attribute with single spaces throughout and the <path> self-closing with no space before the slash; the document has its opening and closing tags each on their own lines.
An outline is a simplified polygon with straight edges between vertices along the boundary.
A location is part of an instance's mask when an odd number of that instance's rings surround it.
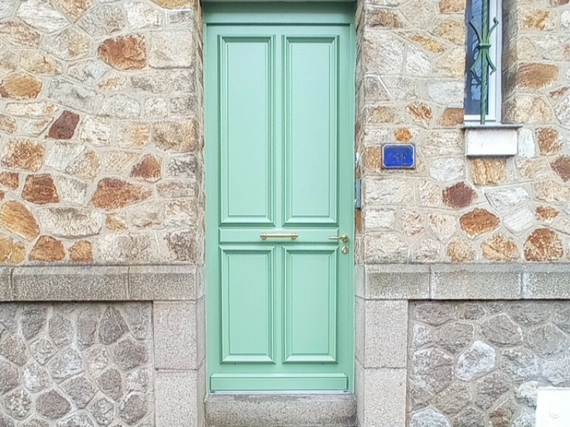
<svg viewBox="0 0 570 427">
<path fill-rule="evenodd" d="M 117 70 L 142 70 L 147 65 L 145 39 L 142 36 L 108 38 L 98 48 L 99 58 Z"/>
</svg>

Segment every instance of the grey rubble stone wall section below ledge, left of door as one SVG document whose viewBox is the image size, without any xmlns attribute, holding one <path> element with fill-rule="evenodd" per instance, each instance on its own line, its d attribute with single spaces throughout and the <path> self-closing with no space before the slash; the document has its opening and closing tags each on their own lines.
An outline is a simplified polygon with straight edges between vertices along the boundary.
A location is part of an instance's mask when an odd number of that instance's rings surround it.
<svg viewBox="0 0 570 427">
<path fill-rule="evenodd" d="M 0 305 L 1 427 L 153 427 L 149 303 Z"/>
</svg>

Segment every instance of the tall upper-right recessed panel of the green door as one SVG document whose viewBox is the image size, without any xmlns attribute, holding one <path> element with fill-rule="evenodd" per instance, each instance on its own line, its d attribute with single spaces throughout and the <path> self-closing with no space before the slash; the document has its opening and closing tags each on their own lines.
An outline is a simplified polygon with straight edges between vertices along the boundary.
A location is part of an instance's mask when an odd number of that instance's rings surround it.
<svg viewBox="0 0 570 427">
<path fill-rule="evenodd" d="M 336 37 L 286 37 L 285 223 L 336 223 Z"/>
</svg>

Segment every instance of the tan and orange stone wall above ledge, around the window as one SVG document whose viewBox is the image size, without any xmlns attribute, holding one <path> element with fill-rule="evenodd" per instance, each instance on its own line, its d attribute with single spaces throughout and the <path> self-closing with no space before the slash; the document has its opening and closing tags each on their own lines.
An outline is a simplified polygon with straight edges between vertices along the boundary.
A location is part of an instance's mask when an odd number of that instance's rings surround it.
<svg viewBox="0 0 570 427">
<path fill-rule="evenodd" d="M 465 157 L 465 1 L 358 2 L 357 263 L 566 260 L 570 5 L 504 0 L 503 120 L 519 153 Z M 418 166 L 381 169 L 380 144 Z"/>
</svg>

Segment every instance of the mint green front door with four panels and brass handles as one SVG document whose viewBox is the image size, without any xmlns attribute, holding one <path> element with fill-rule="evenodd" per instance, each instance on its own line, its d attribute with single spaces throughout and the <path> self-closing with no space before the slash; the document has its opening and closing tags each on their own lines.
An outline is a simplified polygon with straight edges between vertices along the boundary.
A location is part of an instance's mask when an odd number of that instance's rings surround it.
<svg viewBox="0 0 570 427">
<path fill-rule="evenodd" d="M 353 388 L 352 19 L 204 5 L 210 391 Z"/>
</svg>

